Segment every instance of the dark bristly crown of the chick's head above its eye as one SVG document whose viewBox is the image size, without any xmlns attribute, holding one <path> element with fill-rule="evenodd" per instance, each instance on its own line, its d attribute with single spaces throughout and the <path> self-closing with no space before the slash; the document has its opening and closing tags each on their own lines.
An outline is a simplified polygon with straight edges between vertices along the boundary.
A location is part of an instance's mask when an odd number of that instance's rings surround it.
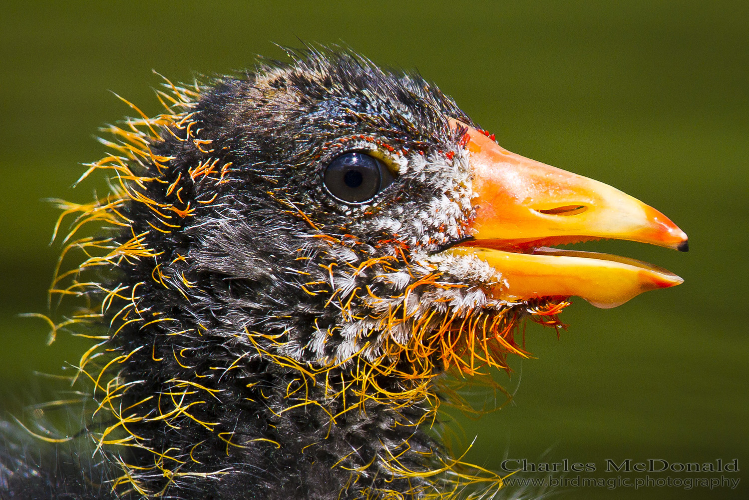
<svg viewBox="0 0 749 500">
<path fill-rule="evenodd" d="M 383 70 L 351 52 L 288 53 L 291 62 L 261 64 L 243 78 L 216 82 L 201 97 L 201 119 L 234 139 L 262 130 L 267 138 L 293 136 L 312 147 L 324 143 L 321 133 L 330 140 L 377 134 L 389 147 L 420 151 L 454 141 L 447 118 L 472 123 L 417 73 Z"/>
</svg>

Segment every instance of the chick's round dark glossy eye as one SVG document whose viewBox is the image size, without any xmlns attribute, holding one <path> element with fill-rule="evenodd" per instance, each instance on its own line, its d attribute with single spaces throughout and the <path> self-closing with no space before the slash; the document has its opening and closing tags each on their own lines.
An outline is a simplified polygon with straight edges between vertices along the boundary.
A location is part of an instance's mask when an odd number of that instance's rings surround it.
<svg viewBox="0 0 749 500">
<path fill-rule="evenodd" d="M 330 194 L 350 203 L 374 198 L 394 180 L 384 163 L 366 153 L 345 153 L 334 158 L 324 175 Z"/>
</svg>

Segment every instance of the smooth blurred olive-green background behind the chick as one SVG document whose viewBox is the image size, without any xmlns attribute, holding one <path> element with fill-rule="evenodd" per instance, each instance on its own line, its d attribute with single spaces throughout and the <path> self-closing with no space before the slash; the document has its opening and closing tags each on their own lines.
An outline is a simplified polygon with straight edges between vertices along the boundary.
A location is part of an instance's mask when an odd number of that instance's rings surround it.
<svg viewBox="0 0 749 500">
<path fill-rule="evenodd" d="M 597 178 L 655 206 L 691 252 L 583 247 L 655 262 L 685 278 L 613 310 L 582 300 L 554 331 L 530 326 L 537 359 L 497 376 L 511 404 L 464 421 L 467 455 L 596 463 L 739 459 L 736 490 L 562 488 L 559 499 L 748 498 L 749 2 L 466 3 L 4 1 L 0 17 L 0 394 L 33 392 L 31 370 L 76 361 L 82 343 L 17 313 L 44 312 L 57 211 L 103 146 L 97 127 L 159 110 L 152 87 L 282 58 L 273 42 L 345 43 L 417 67 L 512 151 Z M 16 394 L 10 397 L 9 394 Z M 572 473 L 561 474 L 574 476 Z M 671 474 L 673 477 L 679 475 Z M 720 477 L 692 474 L 691 477 Z M 664 478 L 666 474 L 651 474 Z M 690 475 L 681 475 L 689 477 Z M 525 477 L 530 477 L 526 475 Z"/>
</svg>

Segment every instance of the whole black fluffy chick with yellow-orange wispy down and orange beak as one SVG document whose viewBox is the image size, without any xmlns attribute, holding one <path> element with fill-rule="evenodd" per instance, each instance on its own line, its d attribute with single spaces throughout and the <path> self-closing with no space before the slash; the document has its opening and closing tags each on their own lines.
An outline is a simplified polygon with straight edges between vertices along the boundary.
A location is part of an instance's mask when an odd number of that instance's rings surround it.
<svg viewBox="0 0 749 500">
<path fill-rule="evenodd" d="M 111 193 L 61 202 L 61 219 L 75 220 L 50 292 L 77 301 L 53 333 L 98 342 L 79 361 L 73 382 L 90 395 L 69 433 L 94 458 L 13 471 L 6 451 L 0 491 L 374 500 L 497 489 L 499 476 L 441 442 L 440 381 L 508 369 L 507 355 L 527 356 L 518 326 L 561 325 L 571 295 L 613 307 L 681 283 L 644 262 L 549 247 L 685 249 L 642 202 L 500 148 L 415 73 L 350 52 L 289 55 L 191 88 L 167 81 L 162 115 L 128 103 L 136 118 L 107 128 L 112 152 L 85 175 L 109 172 Z M 83 235 L 91 225 L 101 229 Z"/>
</svg>

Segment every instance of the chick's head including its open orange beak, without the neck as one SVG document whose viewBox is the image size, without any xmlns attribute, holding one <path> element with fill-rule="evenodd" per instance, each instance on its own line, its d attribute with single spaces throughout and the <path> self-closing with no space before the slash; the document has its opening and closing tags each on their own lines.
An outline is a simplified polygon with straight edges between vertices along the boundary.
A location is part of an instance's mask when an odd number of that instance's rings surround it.
<svg viewBox="0 0 749 500">
<path fill-rule="evenodd" d="M 548 248 L 687 240 L 613 187 L 501 148 L 413 74 L 318 55 L 223 79 L 196 115 L 210 140 L 201 161 L 231 164 L 219 189 L 198 179 L 195 196 L 211 202 L 186 229 L 195 269 L 223 284 L 206 304 L 219 299 L 228 328 L 259 312 L 294 358 L 372 360 L 445 335 L 464 348 L 478 334 L 469 319 L 501 337 L 571 295 L 613 307 L 681 283 L 633 259 Z M 461 364 L 450 342 L 425 352 Z"/>
</svg>

